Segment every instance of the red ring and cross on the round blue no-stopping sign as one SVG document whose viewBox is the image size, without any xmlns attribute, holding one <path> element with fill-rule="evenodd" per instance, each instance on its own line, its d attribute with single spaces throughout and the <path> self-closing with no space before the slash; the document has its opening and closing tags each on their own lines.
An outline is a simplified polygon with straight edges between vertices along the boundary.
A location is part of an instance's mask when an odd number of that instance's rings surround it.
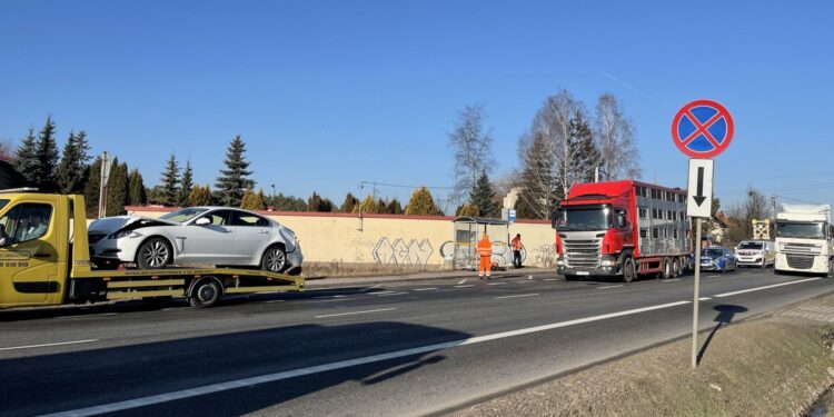
<svg viewBox="0 0 834 417">
<path fill-rule="evenodd" d="M 717 112 L 713 115 L 709 120 L 701 121 L 698 120 L 693 113 L 692 109 L 698 108 L 698 107 L 708 107 L 713 110 L 716 110 Z M 692 132 L 686 138 L 681 138 L 681 135 L 678 133 L 678 125 L 683 120 L 684 116 L 689 120 L 689 122 L 695 126 L 695 131 Z M 724 119 L 726 122 L 726 133 L 724 135 L 724 140 L 718 142 L 712 133 L 708 131 L 709 127 L 713 126 L 716 121 Z M 733 141 L 733 117 L 729 115 L 729 111 L 727 111 L 724 106 L 713 101 L 713 100 L 695 100 L 693 102 L 687 103 L 686 106 L 682 107 L 681 110 L 677 111 L 677 115 L 675 115 L 675 118 L 672 120 L 672 139 L 674 139 L 675 146 L 677 149 L 679 149 L 682 152 L 687 155 L 689 158 L 713 158 L 715 156 L 721 155 L 727 147 L 729 146 L 729 142 Z M 713 146 L 712 150 L 707 151 L 696 151 L 689 149 L 687 146 L 689 142 L 698 138 L 699 136 L 703 136 L 706 138 L 707 141 Z"/>
</svg>

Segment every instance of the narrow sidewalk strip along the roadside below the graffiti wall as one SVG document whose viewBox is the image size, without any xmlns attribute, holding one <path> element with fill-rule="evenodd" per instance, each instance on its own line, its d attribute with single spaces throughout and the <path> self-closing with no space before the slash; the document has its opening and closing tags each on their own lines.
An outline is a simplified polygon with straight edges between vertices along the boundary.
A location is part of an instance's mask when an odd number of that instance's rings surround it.
<svg viewBox="0 0 834 417">
<path fill-rule="evenodd" d="M 493 278 L 510 278 L 510 277 L 524 277 L 524 276 L 537 276 L 537 275 L 556 275 L 556 269 L 539 269 L 539 268 L 522 268 L 522 269 L 509 269 L 506 271 L 493 272 Z M 306 279 L 307 288 L 328 288 L 335 286 L 353 286 L 353 285 L 377 285 L 387 282 L 400 282 L 400 281 L 420 281 L 420 280 L 436 280 L 436 279 L 464 279 L 464 278 L 478 278 L 478 272 L 467 270 L 450 270 L 450 271 L 437 271 L 437 272 L 418 272 L 418 274 L 406 274 L 396 276 L 371 276 L 371 277 L 330 277 L 330 278 L 308 278 Z"/>
</svg>

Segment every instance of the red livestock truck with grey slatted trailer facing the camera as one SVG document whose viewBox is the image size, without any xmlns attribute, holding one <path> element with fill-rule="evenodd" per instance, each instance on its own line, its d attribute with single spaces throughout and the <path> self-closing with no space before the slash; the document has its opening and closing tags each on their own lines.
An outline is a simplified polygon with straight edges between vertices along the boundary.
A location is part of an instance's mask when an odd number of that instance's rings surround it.
<svg viewBox="0 0 834 417">
<path fill-rule="evenodd" d="M 556 269 L 579 276 L 671 278 L 689 266 L 686 191 L 638 181 L 577 183 L 559 202 Z"/>
</svg>

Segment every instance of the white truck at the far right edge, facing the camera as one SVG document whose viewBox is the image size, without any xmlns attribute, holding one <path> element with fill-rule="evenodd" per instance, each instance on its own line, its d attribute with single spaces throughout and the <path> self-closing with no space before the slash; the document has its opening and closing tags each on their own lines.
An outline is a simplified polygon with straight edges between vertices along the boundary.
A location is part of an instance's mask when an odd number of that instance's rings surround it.
<svg viewBox="0 0 834 417">
<path fill-rule="evenodd" d="M 776 274 L 834 272 L 828 205 L 782 205 L 776 215 Z"/>
</svg>

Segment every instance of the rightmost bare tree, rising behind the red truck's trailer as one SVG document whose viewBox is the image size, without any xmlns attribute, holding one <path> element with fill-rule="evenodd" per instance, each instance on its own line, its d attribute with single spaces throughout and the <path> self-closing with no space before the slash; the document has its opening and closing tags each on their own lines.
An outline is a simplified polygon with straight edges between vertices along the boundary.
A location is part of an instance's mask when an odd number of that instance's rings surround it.
<svg viewBox="0 0 834 417">
<path fill-rule="evenodd" d="M 612 93 L 604 93 L 596 105 L 594 136 L 600 153 L 600 178 L 635 179 L 641 175 L 639 151 L 634 139 L 634 123 Z"/>
</svg>

